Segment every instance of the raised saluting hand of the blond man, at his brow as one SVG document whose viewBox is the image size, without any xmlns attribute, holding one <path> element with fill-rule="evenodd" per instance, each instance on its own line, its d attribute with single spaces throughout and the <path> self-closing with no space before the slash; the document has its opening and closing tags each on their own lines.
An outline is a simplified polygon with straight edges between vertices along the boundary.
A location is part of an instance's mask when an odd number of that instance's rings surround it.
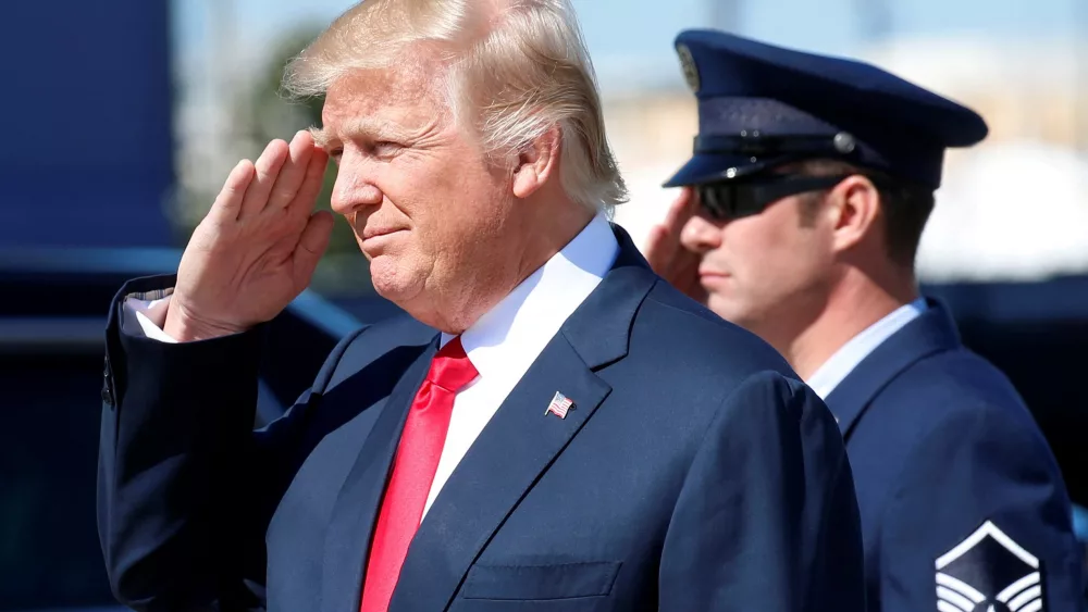
<svg viewBox="0 0 1088 612">
<path fill-rule="evenodd" d="M 243 332 L 306 289 L 333 228 L 332 214 L 313 212 L 327 160 L 299 132 L 235 166 L 185 248 L 163 332 L 178 341 Z"/>
</svg>

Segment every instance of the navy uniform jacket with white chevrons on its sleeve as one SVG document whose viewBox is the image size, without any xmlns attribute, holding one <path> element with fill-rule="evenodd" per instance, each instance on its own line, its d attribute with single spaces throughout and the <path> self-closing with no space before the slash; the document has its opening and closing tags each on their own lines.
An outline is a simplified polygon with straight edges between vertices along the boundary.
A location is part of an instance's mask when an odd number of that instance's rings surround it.
<svg viewBox="0 0 1088 612">
<path fill-rule="evenodd" d="M 1084 610 L 1084 550 L 1046 439 L 948 310 L 929 307 L 827 398 L 854 474 L 870 609 Z"/>
</svg>

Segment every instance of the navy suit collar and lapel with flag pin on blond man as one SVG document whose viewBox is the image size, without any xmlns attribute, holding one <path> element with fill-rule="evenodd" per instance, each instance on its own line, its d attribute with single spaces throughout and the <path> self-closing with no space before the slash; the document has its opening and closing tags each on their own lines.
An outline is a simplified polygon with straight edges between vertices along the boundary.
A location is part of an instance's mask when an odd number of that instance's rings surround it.
<svg viewBox="0 0 1088 612">
<path fill-rule="evenodd" d="M 621 229 L 613 270 L 564 324 L 446 482 L 412 540 L 391 612 L 445 610 L 471 564 L 610 392 L 595 371 L 627 354 L 657 277 Z M 565 419 L 546 412 L 556 392 Z"/>
</svg>

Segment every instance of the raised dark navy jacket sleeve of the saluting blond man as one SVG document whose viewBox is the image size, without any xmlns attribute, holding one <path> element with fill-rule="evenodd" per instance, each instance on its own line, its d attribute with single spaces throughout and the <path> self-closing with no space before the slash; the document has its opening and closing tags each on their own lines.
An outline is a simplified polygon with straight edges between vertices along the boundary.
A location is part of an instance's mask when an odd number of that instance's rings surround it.
<svg viewBox="0 0 1088 612">
<path fill-rule="evenodd" d="M 258 608 L 264 532 L 320 394 L 255 432 L 262 330 L 165 344 L 122 329 L 123 299 L 107 329 L 99 445 L 98 529 L 113 592 L 136 610 Z"/>
</svg>

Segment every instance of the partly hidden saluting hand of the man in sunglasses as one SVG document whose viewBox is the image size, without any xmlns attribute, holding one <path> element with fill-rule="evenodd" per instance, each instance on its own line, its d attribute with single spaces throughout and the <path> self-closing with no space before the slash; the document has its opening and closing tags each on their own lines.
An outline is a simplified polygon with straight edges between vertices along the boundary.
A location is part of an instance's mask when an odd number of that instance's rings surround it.
<svg viewBox="0 0 1088 612">
<path fill-rule="evenodd" d="M 698 205 L 694 190 L 684 187 L 680 190 L 665 221 L 650 230 L 646 242 L 646 260 L 651 267 L 662 278 L 672 284 L 694 300 L 706 303 L 706 290 L 698 282 L 698 253 L 684 248 L 680 242 L 680 234 L 688 220 L 695 214 Z"/>
</svg>

